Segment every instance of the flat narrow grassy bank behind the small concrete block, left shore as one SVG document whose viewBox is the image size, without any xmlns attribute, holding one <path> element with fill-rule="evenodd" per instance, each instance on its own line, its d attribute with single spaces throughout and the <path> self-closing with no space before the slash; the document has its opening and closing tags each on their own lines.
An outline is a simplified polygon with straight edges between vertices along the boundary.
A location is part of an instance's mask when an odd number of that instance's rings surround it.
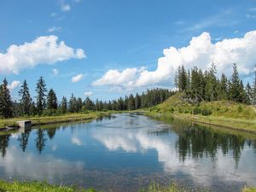
<svg viewBox="0 0 256 192">
<path fill-rule="evenodd" d="M 55 123 L 73 122 L 79 120 L 90 120 L 100 118 L 114 112 L 88 112 L 88 113 L 67 113 L 57 116 L 38 116 L 38 117 L 22 117 L 12 119 L 0 119 L 0 129 L 5 126 L 15 125 L 16 121 L 29 119 L 32 121 L 32 125 L 48 125 Z"/>
</svg>

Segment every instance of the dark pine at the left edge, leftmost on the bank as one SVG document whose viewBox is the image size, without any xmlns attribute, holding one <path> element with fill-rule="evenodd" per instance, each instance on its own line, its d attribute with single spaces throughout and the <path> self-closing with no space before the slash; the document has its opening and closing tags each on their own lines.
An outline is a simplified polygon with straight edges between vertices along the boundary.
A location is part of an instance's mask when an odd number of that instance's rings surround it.
<svg viewBox="0 0 256 192">
<path fill-rule="evenodd" d="M 3 79 L 3 84 L 0 85 L 0 116 L 4 118 L 13 116 L 13 103 L 6 79 Z"/>
</svg>

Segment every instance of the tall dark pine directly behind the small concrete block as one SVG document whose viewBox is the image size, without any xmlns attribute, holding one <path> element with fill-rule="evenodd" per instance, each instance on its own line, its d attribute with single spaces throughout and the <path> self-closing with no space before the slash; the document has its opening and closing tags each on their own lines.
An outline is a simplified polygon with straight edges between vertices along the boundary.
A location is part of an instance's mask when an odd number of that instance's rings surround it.
<svg viewBox="0 0 256 192">
<path fill-rule="evenodd" d="M 21 88 L 19 90 L 19 96 L 20 96 L 20 107 L 21 107 L 22 115 L 29 115 L 32 98 L 30 96 L 26 80 L 24 80 L 23 84 L 21 85 Z"/>
</svg>

